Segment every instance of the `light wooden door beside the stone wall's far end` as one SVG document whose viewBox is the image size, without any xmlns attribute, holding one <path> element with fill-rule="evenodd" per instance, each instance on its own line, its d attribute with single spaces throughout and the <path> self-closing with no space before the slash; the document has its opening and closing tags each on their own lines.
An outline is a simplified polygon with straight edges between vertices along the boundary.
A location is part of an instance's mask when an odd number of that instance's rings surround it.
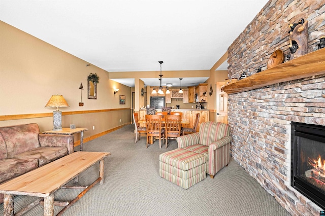
<svg viewBox="0 0 325 216">
<path fill-rule="evenodd" d="M 228 94 L 221 91 L 224 82 L 217 82 L 216 89 L 216 107 L 217 116 L 216 121 L 228 124 Z"/>
</svg>

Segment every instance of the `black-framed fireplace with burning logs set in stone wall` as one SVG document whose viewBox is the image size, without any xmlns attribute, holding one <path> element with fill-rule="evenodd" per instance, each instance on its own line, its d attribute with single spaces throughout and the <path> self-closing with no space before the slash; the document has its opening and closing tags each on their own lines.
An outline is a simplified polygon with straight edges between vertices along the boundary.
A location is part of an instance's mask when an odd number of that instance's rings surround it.
<svg viewBox="0 0 325 216">
<path fill-rule="evenodd" d="M 325 126 L 291 123 L 291 186 L 325 209 Z"/>
</svg>

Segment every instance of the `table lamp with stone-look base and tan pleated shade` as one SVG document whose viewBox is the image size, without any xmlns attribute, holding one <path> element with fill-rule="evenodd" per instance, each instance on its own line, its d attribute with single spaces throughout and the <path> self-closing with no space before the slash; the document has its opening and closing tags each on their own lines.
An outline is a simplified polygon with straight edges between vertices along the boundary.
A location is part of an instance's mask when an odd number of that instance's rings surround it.
<svg viewBox="0 0 325 216">
<path fill-rule="evenodd" d="M 69 107 L 67 101 L 62 95 L 52 95 L 45 107 L 56 108 L 56 111 L 53 111 L 53 130 L 62 130 L 62 112 L 59 107 Z"/>
</svg>

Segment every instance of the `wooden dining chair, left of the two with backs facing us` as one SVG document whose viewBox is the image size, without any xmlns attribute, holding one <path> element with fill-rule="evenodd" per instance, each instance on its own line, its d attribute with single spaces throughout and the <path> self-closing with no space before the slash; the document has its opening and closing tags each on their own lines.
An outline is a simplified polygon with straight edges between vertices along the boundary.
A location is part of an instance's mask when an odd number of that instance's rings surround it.
<svg viewBox="0 0 325 216">
<path fill-rule="evenodd" d="M 161 138 L 165 138 L 165 128 L 161 128 L 162 115 L 146 115 L 146 128 L 147 128 L 147 148 L 149 144 L 149 138 L 159 138 L 159 148 L 161 149 Z"/>
</svg>

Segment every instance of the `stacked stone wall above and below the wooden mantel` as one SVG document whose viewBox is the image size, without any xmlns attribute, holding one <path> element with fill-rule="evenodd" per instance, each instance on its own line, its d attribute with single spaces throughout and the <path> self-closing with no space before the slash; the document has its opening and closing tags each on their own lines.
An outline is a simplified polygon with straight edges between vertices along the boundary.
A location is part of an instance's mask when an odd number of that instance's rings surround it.
<svg viewBox="0 0 325 216">
<path fill-rule="evenodd" d="M 229 77 L 266 69 L 273 51 L 288 50 L 289 23 L 308 20 L 308 52 L 325 35 L 325 2 L 270 0 L 229 47 Z M 325 49 L 325 48 L 324 48 Z M 319 215 L 320 207 L 290 186 L 291 121 L 325 125 L 325 76 L 230 94 L 232 157 L 293 215 Z"/>
</svg>

